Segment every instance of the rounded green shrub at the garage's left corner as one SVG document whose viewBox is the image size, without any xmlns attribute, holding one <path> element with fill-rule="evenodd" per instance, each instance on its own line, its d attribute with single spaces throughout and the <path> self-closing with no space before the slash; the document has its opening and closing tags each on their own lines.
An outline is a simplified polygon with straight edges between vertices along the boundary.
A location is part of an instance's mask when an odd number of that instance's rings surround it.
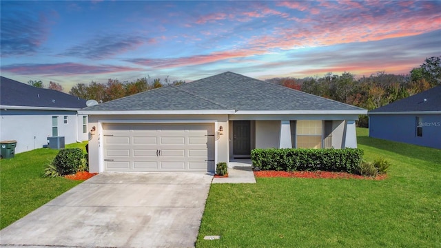
<svg viewBox="0 0 441 248">
<path fill-rule="evenodd" d="M 83 151 L 79 148 L 61 149 L 53 163 L 61 176 L 75 174 L 81 167 L 85 167 Z"/>
</svg>

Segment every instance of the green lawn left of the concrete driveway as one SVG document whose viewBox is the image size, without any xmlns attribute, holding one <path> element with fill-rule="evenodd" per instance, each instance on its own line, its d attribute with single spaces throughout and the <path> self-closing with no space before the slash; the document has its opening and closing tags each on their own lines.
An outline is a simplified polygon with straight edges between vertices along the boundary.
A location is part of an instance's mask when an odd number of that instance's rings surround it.
<svg viewBox="0 0 441 248">
<path fill-rule="evenodd" d="M 85 149 L 85 144 L 87 142 L 74 143 L 66 148 Z M 56 149 L 34 149 L 0 161 L 0 229 L 81 183 L 61 177 L 41 177 L 45 165 L 58 152 Z"/>
</svg>

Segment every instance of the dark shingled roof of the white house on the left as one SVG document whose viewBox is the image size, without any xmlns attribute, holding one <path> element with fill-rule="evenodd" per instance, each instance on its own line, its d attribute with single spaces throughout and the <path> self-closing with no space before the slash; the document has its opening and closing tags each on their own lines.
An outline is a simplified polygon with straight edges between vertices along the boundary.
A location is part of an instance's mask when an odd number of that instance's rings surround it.
<svg viewBox="0 0 441 248">
<path fill-rule="evenodd" d="M 86 107 L 85 100 L 57 90 L 33 87 L 0 76 L 0 105 L 25 109 L 74 109 Z"/>
</svg>

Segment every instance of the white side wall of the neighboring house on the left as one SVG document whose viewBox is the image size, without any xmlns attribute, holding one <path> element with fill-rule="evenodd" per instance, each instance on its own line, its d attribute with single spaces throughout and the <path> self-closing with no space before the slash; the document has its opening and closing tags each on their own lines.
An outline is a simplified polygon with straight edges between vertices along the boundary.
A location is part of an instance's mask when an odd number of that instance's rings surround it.
<svg viewBox="0 0 441 248">
<path fill-rule="evenodd" d="M 48 137 L 52 136 L 52 116 L 58 116 L 58 136 L 64 136 L 66 144 L 88 140 L 88 134 L 83 134 L 79 125 L 82 116 L 77 117 L 76 111 L 2 109 L 0 114 L 0 138 L 2 141 L 17 141 L 17 154 L 48 144 Z M 68 118 L 67 124 L 64 123 L 64 116 Z"/>
</svg>

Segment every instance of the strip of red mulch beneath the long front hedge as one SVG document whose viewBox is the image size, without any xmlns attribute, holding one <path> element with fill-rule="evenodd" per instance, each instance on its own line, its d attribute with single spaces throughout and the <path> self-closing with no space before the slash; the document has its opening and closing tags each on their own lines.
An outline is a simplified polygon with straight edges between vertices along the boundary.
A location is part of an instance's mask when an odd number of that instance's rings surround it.
<svg viewBox="0 0 441 248">
<path fill-rule="evenodd" d="M 254 176 L 256 177 L 286 177 L 286 178 L 355 178 L 355 179 L 371 179 L 371 180 L 382 180 L 387 177 L 387 175 L 382 174 L 376 177 L 371 176 L 360 176 L 355 174 L 350 174 L 346 172 L 282 172 L 282 171 L 258 171 L 254 172 Z"/>
</svg>

